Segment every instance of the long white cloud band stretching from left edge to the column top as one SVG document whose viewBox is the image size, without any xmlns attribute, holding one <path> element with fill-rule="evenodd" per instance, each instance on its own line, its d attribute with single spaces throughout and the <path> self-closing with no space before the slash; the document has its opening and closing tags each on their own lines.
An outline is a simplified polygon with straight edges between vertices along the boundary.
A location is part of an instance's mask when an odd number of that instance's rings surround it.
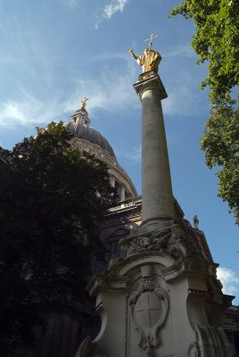
<svg viewBox="0 0 239 357">
<path fill-rule="evenodd" d="M 140 102 L 134 93 L 130 78 L 135 76 L 134 66 L 125 67 L 125 71 L 102 71 L 97 79 L 82 77 L 75 79 L 72 92 L 54 93 L 47 100 L 37 98 L 22 88 L 17 99 L 9 99 L 0 103 L 0 126 L 12 128 L 14 125 L 44 124 L 50 120 L 75 112 L 80 99 L 89 97 L 88 111 L 97 112 L 103 109 L 112 114 L 123 109 L 138 107 Z M 136 76 L 135 76 L 136 77 Z"/>
</svg>

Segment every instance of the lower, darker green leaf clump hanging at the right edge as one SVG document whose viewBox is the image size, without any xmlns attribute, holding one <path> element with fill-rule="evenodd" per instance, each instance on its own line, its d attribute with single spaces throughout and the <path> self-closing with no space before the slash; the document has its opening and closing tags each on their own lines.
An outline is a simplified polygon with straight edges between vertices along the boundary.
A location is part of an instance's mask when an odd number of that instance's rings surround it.
<svg viewBox="0 0 239 357">
<path fill-rule="evenodd" d="M 239 224 L 239 109 L 218 106 L 205 123 L 202 150 L 209 168 L 218 171 L 218 195 L 227 201 Z"/>
</svg>

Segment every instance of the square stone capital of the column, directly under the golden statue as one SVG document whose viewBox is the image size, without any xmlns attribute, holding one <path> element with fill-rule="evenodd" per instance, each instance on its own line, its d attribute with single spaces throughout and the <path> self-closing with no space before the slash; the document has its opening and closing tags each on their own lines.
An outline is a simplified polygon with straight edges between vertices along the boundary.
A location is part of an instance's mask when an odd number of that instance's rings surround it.
<svg viewBox="0 0 239 357">
<path fill-rule="evenodd" d="M 160 76 L 152 71 L 142 73 L 138 77 L 136 84 L 134 84 L 134 88 L 136 89 L 136 94 L 140 97 L 140 100 L 142 100 L 142 95 L 144 94 L 145 90 L 149 89 L 156 90 L 160 100 L 168 97 L 166 90 L 161 82 Z"/>
</svg>

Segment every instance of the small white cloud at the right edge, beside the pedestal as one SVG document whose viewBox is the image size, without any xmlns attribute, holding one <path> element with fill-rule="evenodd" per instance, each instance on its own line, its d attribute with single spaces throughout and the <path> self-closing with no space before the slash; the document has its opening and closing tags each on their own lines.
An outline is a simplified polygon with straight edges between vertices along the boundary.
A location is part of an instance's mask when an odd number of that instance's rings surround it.
<svg viewBox="0 0 239 357">
<path fill-rule="evenodd" d="M 237 293 L 239 278 L 236 277 L 235 271 L 218 267 L 217 276 L 223 285 L 222 291 L 224 294 L 235 295 Z"/>
</svg>

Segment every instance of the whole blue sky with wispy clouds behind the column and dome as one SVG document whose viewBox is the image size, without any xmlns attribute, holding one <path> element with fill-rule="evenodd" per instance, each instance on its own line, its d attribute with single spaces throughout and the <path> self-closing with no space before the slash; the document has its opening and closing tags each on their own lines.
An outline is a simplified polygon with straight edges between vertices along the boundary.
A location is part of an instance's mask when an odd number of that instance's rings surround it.
<svg viewBox="0 0 239 357">
<path fill-rule="evenodd" d="M 69 120 L 89 97 L 91 126 L 108 139 L 141 193 L 141 104 L 132 85 L 141 72 L 128 54 L 160 36 L 160 76 L 174 195 L 192 222 L 198 215 L 227 294 L 239 295 L 238 228 L 217 197 L 215 171 L 200 151 L 210 104 L 200 90 L 193 21 L 169 20 L 177 0 L 3 0 L 0 2 L 0 145 L 11 149 L 51 120 Z M 239 299 L 235 299 L 239 303 Z"/>
</svg>

